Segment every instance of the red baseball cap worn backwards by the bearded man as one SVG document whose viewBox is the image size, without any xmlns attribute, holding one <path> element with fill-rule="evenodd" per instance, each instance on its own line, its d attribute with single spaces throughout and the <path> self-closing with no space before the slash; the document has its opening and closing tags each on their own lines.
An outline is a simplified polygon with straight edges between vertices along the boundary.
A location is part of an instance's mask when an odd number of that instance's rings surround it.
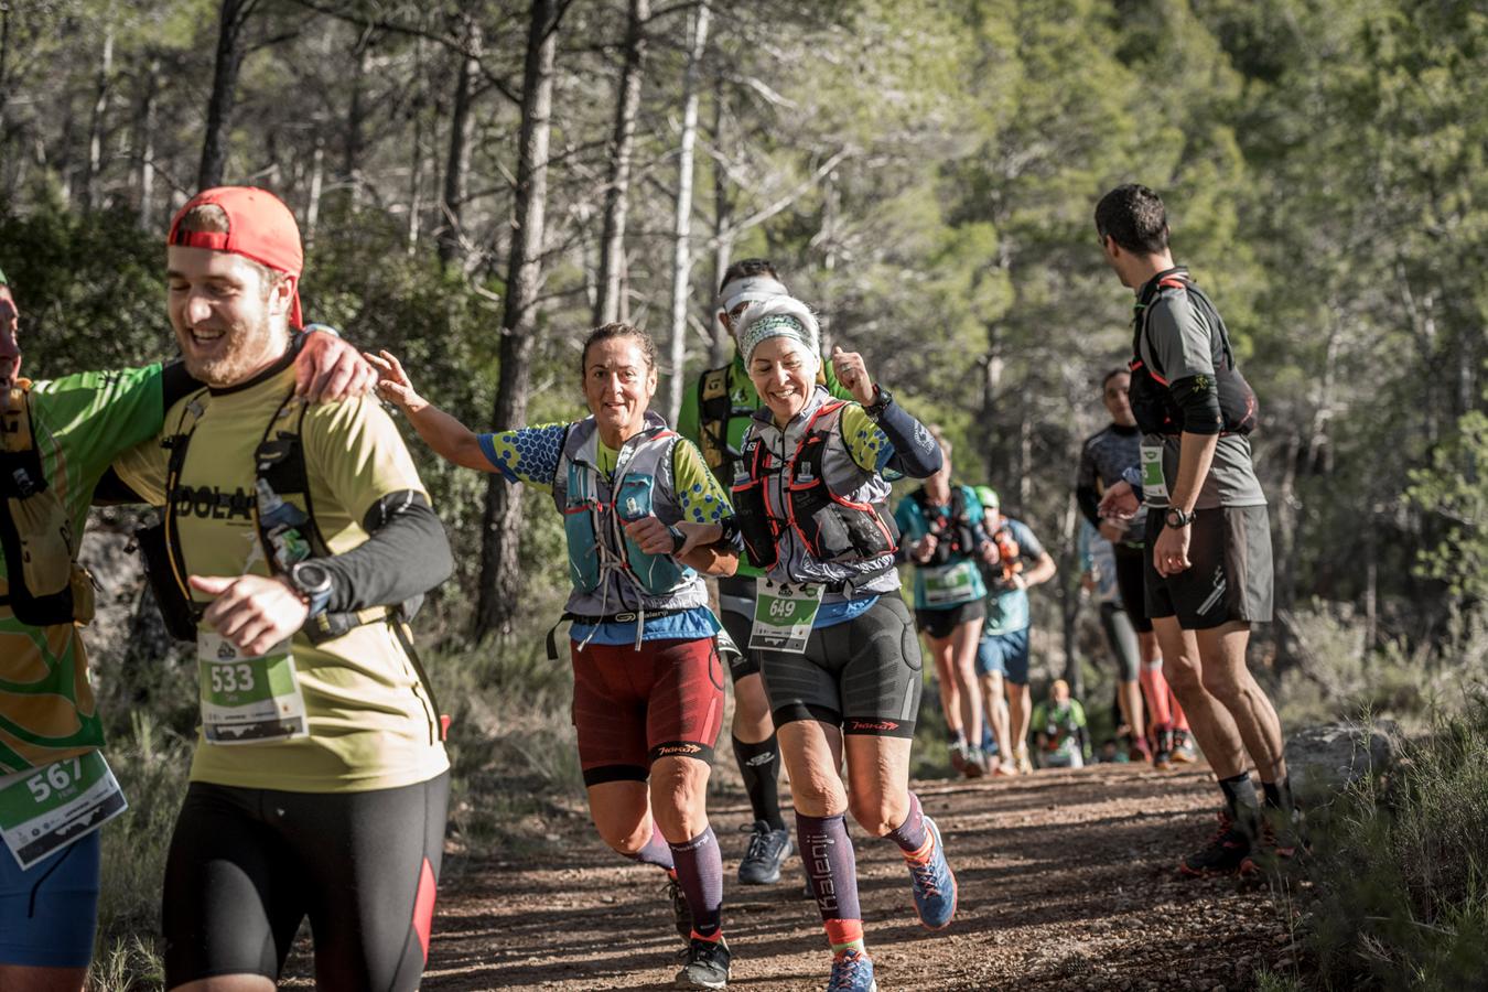
<svg viewBox="0 0 1488 992">
<path fill-rule="evenodd" d="M 182 217 L 192 207 L 213 204 L 228 214 L 228 232 L 182 231 Z M 305 250 L 299 242 L 299 225 L 295 214 L 274 193 L 253 186 L 214 186 L 204 189 L 176 211 L 167 244 L 208 251 L 228 251 L 251 259 L 275 272 L 289 275 L 293 281 L 293 302 L 289 323 L 296 330 L 305 326 L 299 309 L 299 275 L 305 268 Z"/>
</svg>

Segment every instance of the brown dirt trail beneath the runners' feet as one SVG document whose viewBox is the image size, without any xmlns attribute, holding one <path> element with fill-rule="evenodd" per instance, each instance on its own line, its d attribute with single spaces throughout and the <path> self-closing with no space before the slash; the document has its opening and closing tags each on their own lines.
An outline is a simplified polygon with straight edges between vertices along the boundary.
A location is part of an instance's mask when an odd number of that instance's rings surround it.
<svg viewBox="0 0 1488 992">
<path fill-rule="evenodd" d="M 1207 770 L 1104 764 L 998 782 L 921 782 L 960 880 L 942 934 L 914 918 L 897 849 L 854 828 L 878 985 L 897 989 L 1244 989 L 1290 965 L 1265 888 L 1186 880 L 1176 858 L 1213 827 Z M 735 879 L 745 806 L 713 811 L 725 854 L 731 988 L 821 989 L 829 956 L 799 860 L 780 885 Z M 559 857 L 467 863 L 440 892 L 424 989 L 670 988 L 679 941 L 659 872 L 588 824 Z"/>
</svg>

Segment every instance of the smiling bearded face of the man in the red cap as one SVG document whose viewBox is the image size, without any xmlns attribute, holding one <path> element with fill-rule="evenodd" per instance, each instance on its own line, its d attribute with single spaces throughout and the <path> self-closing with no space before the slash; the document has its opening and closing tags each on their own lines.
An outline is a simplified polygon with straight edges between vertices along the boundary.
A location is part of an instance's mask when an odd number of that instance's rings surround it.
<svg viewBox="0 0 1488 992">
<path fill-rule="evenodd" d="M 207 385 L 246 382 L 289 348 L 295 281 L 266 272 L 241 254 L 167 248 L 171 327 L 186 370 Z"/>
</svg>

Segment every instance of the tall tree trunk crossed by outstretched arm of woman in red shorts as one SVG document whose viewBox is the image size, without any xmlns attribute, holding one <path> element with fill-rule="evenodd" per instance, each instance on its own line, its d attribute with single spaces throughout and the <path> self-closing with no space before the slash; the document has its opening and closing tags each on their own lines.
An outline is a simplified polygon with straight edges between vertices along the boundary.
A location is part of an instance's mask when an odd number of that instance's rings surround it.
<svg viewBox="0 0 1488 992">
<path fill-rule="evenodd" d="M 516 216 L 501 314 L 501 376 L 491 422 L 518 427 L 527 418 L 528 372 L 536 344 L 537 292 L 548 199 L 548 140 L 552 126 L 554 58 L 558 49 L 557 0 L 533 0 L 522 71 L 522 129 L 516 161 Z M 475 637 L 506 634 L 519 608 L 516 552 L 522 497 L 493 474 L 485 491 L 481 538 L 481 592 Z"/>
</svg>

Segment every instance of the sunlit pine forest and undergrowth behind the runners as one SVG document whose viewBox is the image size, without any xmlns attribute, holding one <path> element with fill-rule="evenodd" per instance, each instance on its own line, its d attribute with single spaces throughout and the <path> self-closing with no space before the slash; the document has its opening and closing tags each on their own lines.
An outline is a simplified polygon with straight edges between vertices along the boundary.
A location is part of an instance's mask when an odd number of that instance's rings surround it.
<svg viewBox="0 0 1488 992">
<path fill-rule="evenodd" d="M 1253 660 L 1296 718 L 1421 714 L 1488 666 L 1485 156 L 1466 1 L 0 0 L 30 373 L 174 351 L 162 235 L 219 183 L 296 211 L 310 320 L 478 430 L 580 415 L 577 342 L 612 318 L 656 336 L 674 415 L 732 351 L 719 275 L 766 256 L 1051 546 L 1045 672 L 1089 654 L 1071 479 L 1131 348 L 1092 210 L 1158 189 L 1260 396 Z M 577 791 L 537 637 L 562 537 L 546 497 L 411 446 L 457 549 L 420 631 L 475 848 Z M 119 761 L 165 790 L 190 687 L 149 610 L 91 640 Z M 152 904 L 109 898 L 121 974 L 147 971 Z"/>
</svg>

